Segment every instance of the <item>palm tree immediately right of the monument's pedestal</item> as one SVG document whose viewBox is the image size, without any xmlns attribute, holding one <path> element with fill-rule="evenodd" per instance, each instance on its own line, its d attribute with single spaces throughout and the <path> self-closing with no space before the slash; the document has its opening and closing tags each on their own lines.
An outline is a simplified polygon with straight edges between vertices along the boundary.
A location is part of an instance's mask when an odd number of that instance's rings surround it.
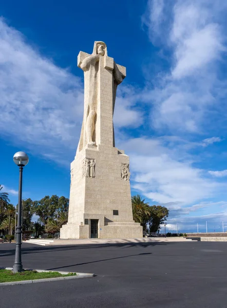
<svg viewBox="0 0 227 308">
<path fill-rule="evenodd" d="M 150 217 L 150 207 L 148 202 L 144 202 L 142 196 L 137 195 L 131 197 L 131 205 L 133 206 L 133 219 L 143 226 L 143 232 L 146 230 L 146 225 Z"/>
</svg>

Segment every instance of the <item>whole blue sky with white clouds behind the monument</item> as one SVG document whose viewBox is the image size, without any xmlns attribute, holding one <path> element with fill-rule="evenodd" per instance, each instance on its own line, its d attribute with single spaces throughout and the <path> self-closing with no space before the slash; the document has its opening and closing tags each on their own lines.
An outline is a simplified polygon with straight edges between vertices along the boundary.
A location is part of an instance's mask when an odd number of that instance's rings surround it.
<svg viewBox="0 0 227 308">
<path fill-rule="evenodd" d="M 127 68 L 116 146 L 132 194 L 169 208 L 167 230 L 227 229 L 227 4 L 216 0 L 22 0 L 0 5 L 0 182 L 17 202 L 14 153 L 30 157 L 24 198 L 69 197 L 83 117 L 80 50 Z"/>
</svg>

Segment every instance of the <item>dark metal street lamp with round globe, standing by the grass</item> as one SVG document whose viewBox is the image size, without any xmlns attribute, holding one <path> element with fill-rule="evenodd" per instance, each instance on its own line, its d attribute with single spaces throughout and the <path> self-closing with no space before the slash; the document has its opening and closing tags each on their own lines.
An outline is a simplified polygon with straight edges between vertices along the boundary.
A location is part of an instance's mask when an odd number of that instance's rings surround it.
<svg viewBox="0 0 227 308">
<path fill-rule="evenodd" d="M 22 272 L 21 260 L 21 244 L 22 244 L 22 224 L 21 224 L 21 211 L 22 211 L 22 173 L 23 167 L 27 165 L 29 158 L 25 152 L 17 152 L 13 156 L 14 163 L 19 166 L 19 189 L 18 189 L 18 211 L 17 211 L 17 226 L 16 226 L 16 251 L 15 262 L 13 265 L 13 272 Z"/>
</svg>

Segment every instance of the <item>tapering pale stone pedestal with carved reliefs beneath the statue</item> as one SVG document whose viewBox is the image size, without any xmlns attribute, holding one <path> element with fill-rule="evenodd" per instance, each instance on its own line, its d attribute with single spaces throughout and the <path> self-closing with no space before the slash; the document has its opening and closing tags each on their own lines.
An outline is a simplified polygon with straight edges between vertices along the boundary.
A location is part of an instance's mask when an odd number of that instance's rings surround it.
<svg viewBox="0 0 227 308">
<path fill-rule="evenodd" d="M 124 151 L 112 146 L 88 144 L 77 154 L 62 239 L 142 237 L 133 220 L 128 165 Z"/>
</svg>

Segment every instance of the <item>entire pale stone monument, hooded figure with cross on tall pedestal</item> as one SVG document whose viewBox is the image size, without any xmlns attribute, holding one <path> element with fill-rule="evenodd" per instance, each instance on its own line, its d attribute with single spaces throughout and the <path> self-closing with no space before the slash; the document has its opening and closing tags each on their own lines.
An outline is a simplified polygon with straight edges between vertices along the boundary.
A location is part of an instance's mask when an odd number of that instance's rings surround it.
<svg viewBox="0 0 227 308">
<path fill-rule="evenodd" d="M 141 238 L 133 220 L 129 157 L 115 147 L 113 111 L 126 68 L 107 55 L 104 42 L 92 54 L 80 51 L 84 71 L 84 117 L 80 141 L 71 163 L 68 223 L 62 239 Z"/>
</svg>

